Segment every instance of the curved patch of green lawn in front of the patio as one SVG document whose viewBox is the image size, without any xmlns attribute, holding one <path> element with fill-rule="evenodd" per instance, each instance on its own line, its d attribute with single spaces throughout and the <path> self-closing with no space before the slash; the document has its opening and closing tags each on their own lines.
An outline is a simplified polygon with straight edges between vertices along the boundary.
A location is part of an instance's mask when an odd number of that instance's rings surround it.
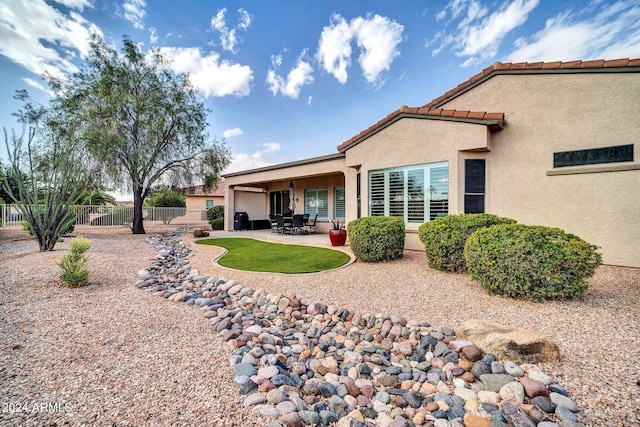
<svg viewBox="0 0 640 427">
<path fill-rule="evenodd" d="M 266 273 L 316 273 L 349 262 L 342 251 L 314 246 L 285 245 L 247 238 L 214 238 L 196 241 L 199 245 L 220 246 L 227 253 L 218 264 L 237 270 Z"/>
</svg>

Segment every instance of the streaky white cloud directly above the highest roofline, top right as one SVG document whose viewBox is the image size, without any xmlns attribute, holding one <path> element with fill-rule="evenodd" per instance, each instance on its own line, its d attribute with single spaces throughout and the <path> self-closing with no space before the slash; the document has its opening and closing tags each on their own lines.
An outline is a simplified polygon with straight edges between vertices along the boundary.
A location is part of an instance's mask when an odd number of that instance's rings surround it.
<svg viewBox="0 0 640 427">
<path fill-rule="evenodd" d="M 568 61 L 640 57 L 640 5 L 617 2 L 596 9 L 590 19 L 565 11 L 544 29 L 515 42 L 508 61 Z"/>
</svg>

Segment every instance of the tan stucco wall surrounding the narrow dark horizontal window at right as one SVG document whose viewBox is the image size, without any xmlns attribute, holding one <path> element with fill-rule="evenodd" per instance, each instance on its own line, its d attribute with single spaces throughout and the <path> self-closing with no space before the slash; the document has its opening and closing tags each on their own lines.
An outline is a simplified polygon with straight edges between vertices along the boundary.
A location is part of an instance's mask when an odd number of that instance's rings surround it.
<svg viewBox="0 0 640 427">
<path fill-rule="evenodd" d="M 640 267 L 640 170 L 547 175 L 554 152 L 612 145 L 635 144 L 637 166 L 639 96 L 638 73 L 503 75 L 442 108 L 505 113 L 486 154 L 487 212 L 562 228 L 605 263 Z"/>
</svg>

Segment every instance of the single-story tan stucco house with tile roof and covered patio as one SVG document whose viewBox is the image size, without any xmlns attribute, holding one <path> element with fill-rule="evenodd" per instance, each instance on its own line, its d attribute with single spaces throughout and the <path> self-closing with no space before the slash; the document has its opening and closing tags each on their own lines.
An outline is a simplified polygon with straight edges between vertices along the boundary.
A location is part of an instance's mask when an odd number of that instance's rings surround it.
<svg viewBox="0 0 640 427">
<path fill-rule="evenodd" d="M 419 107 L 402 106 L 337 153 L 224 175 L 234 211 L 288 209 L 420 224 L 487 212 L 574 233 L 607 264 L 640 267 L 640 59 L 500 63 Z M 263 193 L 247 201 L 236 189 Z"/>
</svg>

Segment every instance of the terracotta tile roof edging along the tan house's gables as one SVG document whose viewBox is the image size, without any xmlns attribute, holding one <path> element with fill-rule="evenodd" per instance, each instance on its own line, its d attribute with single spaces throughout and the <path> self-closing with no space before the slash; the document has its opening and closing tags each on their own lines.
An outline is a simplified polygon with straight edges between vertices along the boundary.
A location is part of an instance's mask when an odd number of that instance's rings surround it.
<svg viewBox="0 0 640 427">
<path fill-rule="evenodd" d="M 436 120 L 454 120 L 467 123 L 478 123 L 489 126 L 491 130 L 500 130 L 505 123 L 504 113 L 488 113 L 479 111 L 445 110 L 438 108 L 451 98 L 471 89 L 477 84 L 498 74 L 528 74 L 528 73 L 563 73 L 563 72 L 598 72 L 599 69 L 633 68 L 640 67 L 640 58 L 636 59 L 614 59 L 614 60 L 592 60 L 592 61 L 556 61 L 556 62 L 495 62 L 469 80 L 460 83 L 455 88 L 447 91 L 444 95 L 435 98 L 422 107 L 407 107 L 403 105 L 396 111 L 390 113 L 377 123 L 369 126 L 351 139 L 338 146 L 339 152 L 344 152 L 347 148 L 364 140 L 369 135 L 383 129 L 402 117 L 426 118 Z M 630 70 L 631 71 L 631 70 Z M 636 71 L 635 69 L 633 71 Z M 640 71 L 640 69 L 638 70 Z"/>
</svg>

